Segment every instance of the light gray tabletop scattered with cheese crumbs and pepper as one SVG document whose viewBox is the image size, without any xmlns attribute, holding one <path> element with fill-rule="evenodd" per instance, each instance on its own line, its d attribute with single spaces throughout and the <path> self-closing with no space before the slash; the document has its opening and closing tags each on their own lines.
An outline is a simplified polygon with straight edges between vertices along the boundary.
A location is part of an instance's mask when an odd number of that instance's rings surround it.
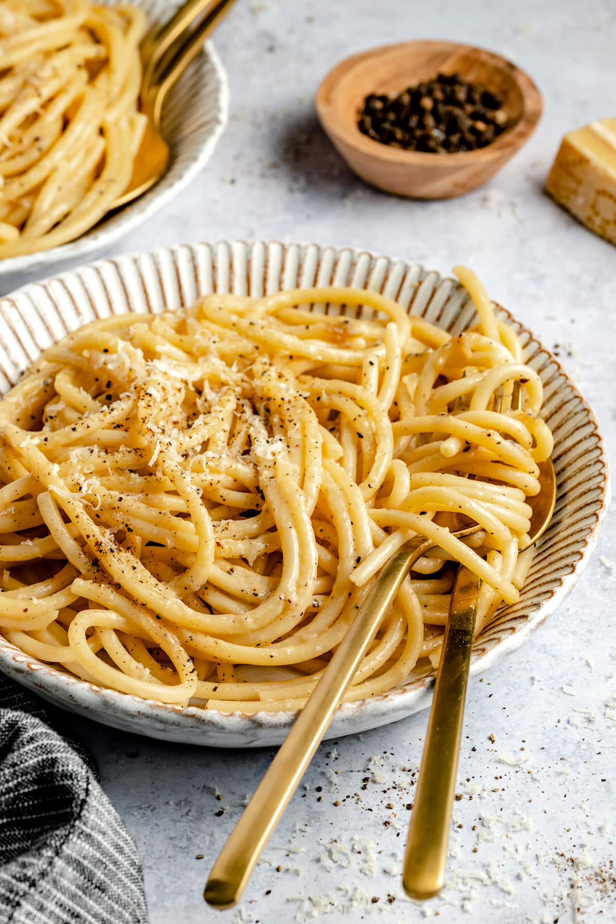
<svg viewBox="0 0 616 924">
<path fill-rule="evenodd" d="M 314 116 L 314 91 L 340 58 L 418 37 L 509 55 L 543 92 L 545 115 L 532 140 L 487 187 L 463 199 L 402 201 L 364 186 Z M 366 247 L 444 272 L 468 263 L 547 346 L 562 345 L 562 361 L 597 410 L 613 454 L 616 249 L 542 192 L 562 133 L 616 114 L 613 0 L 239 0 L 216 44 L 231 85 L 223 140 L 192 186 L 115 252 L 272 237 Z M 4 289 L 26 281 L 5 279 Z M 151 924 L 286 924 L 326 915 L 332 924 L 368 917 L 386 924 L 437 916 L 448 924 L 616 919 L 610 560 L 616 562 L 613 517 L 558 613 L 472 684 L 450 885 L 423 907 L 404 897 L 400 858 L 425 712 L 320 748 L 245 900 L 222 916 L 203 905 L 202 886 L 272 750 L 164 745 L 79 721 L 103 786 L 139 846 Z"/>
</svg>

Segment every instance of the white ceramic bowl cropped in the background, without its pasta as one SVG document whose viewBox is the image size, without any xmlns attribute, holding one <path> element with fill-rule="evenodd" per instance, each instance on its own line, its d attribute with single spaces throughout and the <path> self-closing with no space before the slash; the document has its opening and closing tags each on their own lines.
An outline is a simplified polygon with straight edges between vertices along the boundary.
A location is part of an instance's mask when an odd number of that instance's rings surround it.
<svg viewBox="0 0 616 924">
<path fill-rule="evenodd" d="M 103 0 L 115 6 L 122 0 Z M 150 22 L 163 24 L 182 0 L 130 0 L 142 6 Z M 170 91 L 163 108 L 163 134 L 171 145 L 171 162 L 163 178 L 139 199 L 103 218 L 77 240 L 0 260 L 0 276 L 38 270 L 53 263 L 85 257 L 109 247 L 119 237 L 141 225 L 190 182 L 207 164 L 227 123 L 229 91 L 226 72 L 211 42 Z"/>
</svg>

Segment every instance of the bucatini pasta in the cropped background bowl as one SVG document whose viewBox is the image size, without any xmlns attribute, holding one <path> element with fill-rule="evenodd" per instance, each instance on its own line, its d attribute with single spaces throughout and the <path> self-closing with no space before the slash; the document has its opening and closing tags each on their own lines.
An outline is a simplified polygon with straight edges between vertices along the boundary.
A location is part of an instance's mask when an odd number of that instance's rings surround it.
<svg viewBox="0 0 616 924">
<path fill-rule="evenodd" d="M 137 6 L 0 4 L 0 258 L 74 240 L 127 188 L 144 30 Z"/>
</svg>

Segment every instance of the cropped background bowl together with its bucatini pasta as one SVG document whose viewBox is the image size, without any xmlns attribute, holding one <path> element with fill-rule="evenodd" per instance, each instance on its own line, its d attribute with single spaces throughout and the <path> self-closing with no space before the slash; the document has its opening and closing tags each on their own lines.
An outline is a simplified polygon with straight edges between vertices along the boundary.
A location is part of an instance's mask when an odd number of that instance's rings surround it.
<svg viewBox="0 0 616 924">
<path fill-rule="evenodd" d="M 171 156 L 123 207 L 147 118 L 141 39 L 180 0 L 6 0 L 0 9 L 0 274 L 103 249 L 169 202 L 207 163 L 227 120 L 208 42 L 163 104 Z"/>
</svg>

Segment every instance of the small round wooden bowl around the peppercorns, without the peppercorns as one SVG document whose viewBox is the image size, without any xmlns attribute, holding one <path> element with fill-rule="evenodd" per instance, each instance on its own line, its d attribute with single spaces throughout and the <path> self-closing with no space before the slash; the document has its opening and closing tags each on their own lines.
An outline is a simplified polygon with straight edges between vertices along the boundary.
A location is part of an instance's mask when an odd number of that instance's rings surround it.
<svg viewBox="0 0 616 924">
<path fill-rule="evenodd" d="M 509 125 L 485 148 L 424 153 L 372 140 L 357 127 L 369 93 L 397 94 L 437 74 L 458 73 L 501 97 Z M 528 140 L 541 116 L 541 94 L 501 55 L 454 42 L 382 45 L 345 58 L 316 96 L 320 123 L 344 160 L 372 186 L 412 199 L 450 199 L 482 186 Z"/>
</svg>

